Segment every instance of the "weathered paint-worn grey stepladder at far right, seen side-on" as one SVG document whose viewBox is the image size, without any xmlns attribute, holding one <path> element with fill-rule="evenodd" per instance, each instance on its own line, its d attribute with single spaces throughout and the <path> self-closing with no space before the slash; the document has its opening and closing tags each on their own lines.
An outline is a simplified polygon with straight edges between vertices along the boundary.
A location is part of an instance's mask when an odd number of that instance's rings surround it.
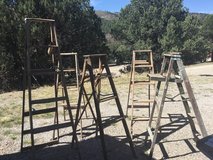
<svg viewBox="0 0 213 160">
<path fill-rule="evenodd" d="M 192 91 L 191 84 L 189 82 L 187 73 L 185 71 L 183 62 L 181 60 L 181 53 L 172 52 L 170 54 L 164 54 L 160 74 L 153 74 L 153 75 L 150 74 L 149 76 L 151 80 L 157 81 L 155 99 L 154 99 L 153 108 L 151 111 L 151 117 L 149 120 L 148 129 L 147 129 L 148 134 L 151 138 L 150 157 L 152 157 L 153 155 L 154 147 L 156 144 L 156 139 L 157 139 L 158 131 L 160 128 L 161 116 L 162 116 L 163 108 L 164 108 L 164 102 L 165 102 L 165 99 L 167 98 L 166 96 L 167 96 L 169 82 L 175 82 L 177 84 L 179 95 L 183 102 L 186 115 L 192 130 L 192 134 L 194 136 L 194 140 L 197 141 L 199 139 L 198 137 L 199 133 L 196 130 L 195 123 L 193 121 L 193 115 L 190 110 L 188 102 L 191 103 L 191 108 L 193 108 L 194 115 L 198 122 L 202 136 L 203 137 L 207 136 L 207 131 L 204 126 L 203 119 L 201 117 L 195 96 Z M 160 87 L 162 82 L 164 82 L 165 84 L 164 84 L 164 88 L 160 98 Z M 184 90 L 183 84 L 185 85 L 186 91 Z M 151 126 L 153 121 L 153 115 L 156 108 L 158 110 L 158 113 L 157 113 L 156 124 L 154 125 L 155 128 L 153 131 Z"/>
</svg>

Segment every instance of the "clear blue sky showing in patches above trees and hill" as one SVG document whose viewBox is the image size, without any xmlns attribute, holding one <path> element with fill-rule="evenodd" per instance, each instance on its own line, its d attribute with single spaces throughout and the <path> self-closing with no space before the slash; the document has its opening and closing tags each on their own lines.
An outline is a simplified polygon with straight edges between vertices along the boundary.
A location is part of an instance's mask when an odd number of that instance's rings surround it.
<svg viewBox="0 0 213 160">
<path fill-rule="evenodd" d="M 95 10 L 119 12 L 130 0 L 90 0 L 90 3 Z M 213 0 L 184 0 L 183 5 L 189 12 L 213 14 Z"/>
</svg>

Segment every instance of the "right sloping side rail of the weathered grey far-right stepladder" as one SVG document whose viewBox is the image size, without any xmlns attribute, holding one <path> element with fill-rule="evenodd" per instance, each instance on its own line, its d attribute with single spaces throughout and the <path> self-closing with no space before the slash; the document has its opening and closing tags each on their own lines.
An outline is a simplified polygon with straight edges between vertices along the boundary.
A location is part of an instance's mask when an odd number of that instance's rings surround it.
<svg viewBox="0 0 213 160">
<path fill-rule="evenodd" d="M 201 117 L 201 113 L 200 113 L 200 110 L 198 108 L 197 101 L 196 101 L 195 96 L 193 94 L 192 87 L 191 87 L 191 84 L 189 82 L 189 79 L 188 79 L 188 76 L 187 76 L 187 73 L 186 73 L 186 70 L 184 68 L 182 60 L 178 60 L 177 61 L 177 65 L 178 65 L 178 68 L 180 70 L 180 74 L 181 74 L 181 76 L 183 78 L 186 90 L 188 92 L 188 95 L 189 95 L 189 98 L 190 98 L 190 102 L 192 104 L 192 108 L 193 108 L 194 113 L 196 115 L 196 119 L 198 121 L 202 136 L 206 137 L 208 134 L 207 134 L 206 128 L 204 126 L 204 122 L 203 122 L 203 119 Z"/>
</svg>

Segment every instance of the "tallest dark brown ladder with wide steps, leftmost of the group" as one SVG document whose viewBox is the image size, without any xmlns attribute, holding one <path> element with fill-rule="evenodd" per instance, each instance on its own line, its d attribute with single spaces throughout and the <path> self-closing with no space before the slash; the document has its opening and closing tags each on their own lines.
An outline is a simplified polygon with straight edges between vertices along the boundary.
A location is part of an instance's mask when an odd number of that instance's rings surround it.
<svg viewBox="0 0 213 160">
<path fill-rule="evenodd" d="M 51 57 L 51 65 L 50 68 L 32 68 L 31 64 L 31 56 L 32 56 L 32 47 L 40 47 L 40 46 L 33 46 L 30 42 L 30 29 L 31 25 L 35 23 L 42 23 L 46 24 L 50 27 L 50 45 L 48 47 L 48 54 Z M 73 122 L 73 116 L 71 110 L 69 111 L 70 121 L 66 123 L 59 123 L 59 116 L 58 116 L 58 102 L 65 101 L 67 106 L 70 105 L 66 84 L 64 82 L 64 71 L 62 67 L 62 61 L 57 41 L 56 35 L 56 27 L 55 27 L 55 20 L 52 19 L 41 19 L 41 18 L 26 18 L 25 19 L 25 29 L 26 29 L 26 59 L 25 59 L 25 68 L 24 68 L 24 77 L 23 77 L 23 107 L 22 107 L 22 130 L 21 130 L 21 151 L 26 149 L 33 149 L 37 147 L 43 147 L 46 145 L 56 144 L 59 142 L 59 129 L 65 127 L 72 127 L 73 131 L 73 138 L 77 142 L 76 131 Z M 54 79 L 54 97 L 51 98 L 41 98 L 35 99 L 33 97 L 32 91 L 32 82 L 31 77 L 34 75 L 39 76 L 53 76 Z M 61 83 L 64 88 L 64 96 L 58 96 L 58 82 L 61 79 Z M 27 89 L 27 90 L 26 90 Z M 27 92 L 27 94 L 26 94 Z M 38 94 L 38 93 L 36 93 Z M 42 93 L 41 93 L 42 94 Z M 28 99 L 28 105 L 26 100 Z M 53 107 L 49 107 L 50 105 L 54 105 Z M 45 107 L 40 108 L 40 105 L 45 105 Z M 26 109 L 26 106 L 29 109 Z M 45 125 L 45 126 L 34 126 L 34 120 L 36 120 L 36 116 L 44 116 L 45 114 L 54 114 L 54 124 Z M 26 118 L 29 118 L 27 121 Z M 25 122 L 26 121 L 26 122 Z M 25 125 L 25 123 L 29 123 L 29 125 Z M 28 128 L 26 126 L 29 126 Z M 57 131 L 57 137 L 53 137 L 53 140 L 43 144 L 35 144 L 35 135 L 49 132 L 49 131 Z M 24 136 L 30 135 L 31 145 L 26 146 L 24 145 Z"/>
</svg>

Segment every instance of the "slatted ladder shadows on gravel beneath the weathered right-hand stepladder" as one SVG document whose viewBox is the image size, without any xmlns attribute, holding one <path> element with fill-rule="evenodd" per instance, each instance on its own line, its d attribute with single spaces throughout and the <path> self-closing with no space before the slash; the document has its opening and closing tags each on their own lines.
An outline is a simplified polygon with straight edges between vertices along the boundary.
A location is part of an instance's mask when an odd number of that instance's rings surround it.
<svg viewBox="0 0 213 160">
<path fill-rule="evenodd" d="M 157 140 L 156 140 L 156 144 L 159 144 L 160 150 L 163 154 L 163 158 L 177 158 L 177 157 L 181 157 L 181 156 L 185 156 L 185 155 L 189 155 L 192 153 L 197 153 L 199 151 L 197 151 L 193 145 L 191 144 L 190 140 L 191 139 L 182 139 L 182 140 L 171 140 L 171 141 L 164 141 L 164 142 L 160 142 L 161 140 L 165 139 L 166 137 L 168 137 L 169 135 L 177 132 L 178 130 L 182 129 L 183 127 L 185 127 L 186 125 L 189 124 L 189 120 L 187 117 L 185 117 L 183 114 L 168 114 L 169 117 L 167 117 L 170 120 L 170 123 L 167 123 L 165 125 L 160 126 L 159 128 L 159 134 L 157 136 Z M 151 147 L 151 141 L 148 140 L 147 142 L 145 142 L 145 139 L 141 138 L 141 137 L 146 137 L 148 135 L 147 131 L 143 132 L 142 134 L 136 135 L 136 138 L 138 138 L 139 140 L 141 140 L 141 142 L 137 141 L 135 142 L 135 145 L 140 145 L 142 150 L 144 150 L 145 152 L 148 151 Z M 164 144 L 166 143 L 170 143 L 170 142 L 180 142 L 183 141 L 188 148 L 190 149 L 191 152 L 189 153 L 185 153 L 182 155 L 177 155 L 177 156 L 169 156 Z"/>
</svg>

